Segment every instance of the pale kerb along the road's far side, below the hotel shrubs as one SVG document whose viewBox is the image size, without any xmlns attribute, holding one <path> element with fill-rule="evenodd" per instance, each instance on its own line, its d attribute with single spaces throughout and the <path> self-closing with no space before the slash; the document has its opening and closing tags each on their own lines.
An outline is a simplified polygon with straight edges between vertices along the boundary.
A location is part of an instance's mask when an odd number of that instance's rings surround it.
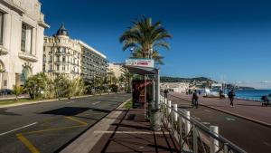
<svg viewBox="0 0 271 153">
<path fill-rule="evenodd" d="M 85 97 L 92 97 L 92 96 L 102 96 L 102 95 L 107 95 L 107 94 L 115 94 L 115 93 L 102 93 L 102 94 L 89 94 L 89 95 L 83 95 L 83 96 L 76 96 L 76 97 L 71 97 L 70 100 L 75 100 L 75 99 L 85 98 Z M 31 104 L 37 104 L 37 103 L 43 103 L 43 102 L 51 102 L 51 101 L 56 101 L 56 100 L 58 101 L 58 100 L 69 100 L 69 99 L 62 98 L 62 99 L 51 99 L 51 100 L 33 100 L 33 101 L 29 101 L 29 102 L 0 105 L 0 109 L 11 108 L 11 107 L 16 107 L 16 106 L 23 106 L 23 105 L 31 105 Z"/>
</svg>

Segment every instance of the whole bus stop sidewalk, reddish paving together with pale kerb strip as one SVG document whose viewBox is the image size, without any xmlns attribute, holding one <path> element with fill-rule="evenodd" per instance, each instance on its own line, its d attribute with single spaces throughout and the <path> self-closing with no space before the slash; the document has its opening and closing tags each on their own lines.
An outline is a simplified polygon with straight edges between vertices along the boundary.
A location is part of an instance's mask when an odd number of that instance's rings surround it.
<svg viewBox="0 0 271 153">
<path fill-rule="evenodd" d="M 93 141 L 96 141 L 95 145 Z M 61 152 L 121 153 L 178 152 L 178 150 L 177 142 L 167 130 L 150 129 L 150 123 L 145 120 L 143 110 L 125 110 L 119 107 Z"/>
</svg>

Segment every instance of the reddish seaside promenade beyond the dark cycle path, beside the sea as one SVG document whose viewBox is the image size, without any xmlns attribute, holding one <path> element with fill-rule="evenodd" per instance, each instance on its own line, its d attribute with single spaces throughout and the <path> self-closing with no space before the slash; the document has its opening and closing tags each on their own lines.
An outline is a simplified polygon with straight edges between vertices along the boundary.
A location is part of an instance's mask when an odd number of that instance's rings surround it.
<svg viewBox="0 0 271 153">
<path fill-rule="evenodd" d="M 174 97 L 191 101 L 191 97 L 178 92 L 170 92 Z M 191 102 L 190 102 L 191 103 Z M 229 106 L 229 99 L 200 97 L 199 103 L 211 109 L 220 110 L 240 118 L 251 120 L 271 127 L 271 107 L 262 107 L 261 102 L 251 100 L 234 100 L 234 107 Z"/>
</svg>

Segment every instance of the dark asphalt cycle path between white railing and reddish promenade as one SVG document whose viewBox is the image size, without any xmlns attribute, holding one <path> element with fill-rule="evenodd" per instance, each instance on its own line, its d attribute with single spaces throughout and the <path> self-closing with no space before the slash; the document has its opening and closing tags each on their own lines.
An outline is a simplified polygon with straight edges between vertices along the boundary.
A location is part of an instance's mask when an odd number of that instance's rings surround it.
<svg viewBox="0 0 271 153">
<path fill-rule="evenodd" d="M 199 109 L 192 109 L 189 101 L 171 95 L 169 100 L 177 103 L 180 109 L 190 110 L 192 117 L 206 126 L 219 126 L 221 136 L 248 153 L 271 152 L 271 128 L 203 106 L 200 106 Z"/>
</svg>

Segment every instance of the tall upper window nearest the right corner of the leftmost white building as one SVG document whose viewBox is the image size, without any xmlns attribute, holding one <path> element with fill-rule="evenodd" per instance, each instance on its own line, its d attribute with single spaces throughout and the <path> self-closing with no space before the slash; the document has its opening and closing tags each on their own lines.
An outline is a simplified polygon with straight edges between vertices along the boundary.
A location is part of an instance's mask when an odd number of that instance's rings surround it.
<svg viewBox="0 0 271 153">
<path fill-rule="evenodd" d="M 21 50 L 32 54 L 32 27 L 27 24 L 22 25 Z"/>
</svg>

